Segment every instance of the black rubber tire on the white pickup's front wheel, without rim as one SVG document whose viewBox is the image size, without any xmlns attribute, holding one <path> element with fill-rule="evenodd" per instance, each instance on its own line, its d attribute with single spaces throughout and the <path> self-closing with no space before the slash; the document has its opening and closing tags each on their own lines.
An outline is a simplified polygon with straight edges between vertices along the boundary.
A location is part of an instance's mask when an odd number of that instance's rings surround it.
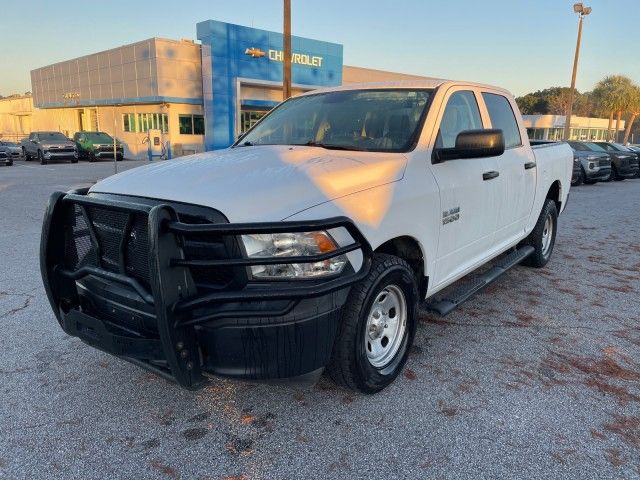
<svg viewBox="0 0 640 480">
<path fill-rule="evenodd" d="M 404 295 L 406 327 L 393 357 L 384 365 L 374 367 L 365 346 L 367 320 L 374 301 L 387 288 L 399 289 Z M 326 369 L 331 379 L 368 394 L 377 393 L 393 382 L 402 371 L 413 343 L 417 302 L 418 289 L 409 265 L 393 255 L 376 254 L 369 275 L 352 287 L 345 304 L 331 361 Z"/>
</svg>

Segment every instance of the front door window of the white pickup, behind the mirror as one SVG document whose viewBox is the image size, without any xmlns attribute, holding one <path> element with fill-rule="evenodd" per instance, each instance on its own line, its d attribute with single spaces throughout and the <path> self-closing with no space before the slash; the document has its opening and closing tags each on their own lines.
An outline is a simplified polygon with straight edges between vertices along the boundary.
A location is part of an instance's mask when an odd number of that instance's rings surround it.
<svg viewBox="0 0 640 480">
<path fill-rule="evenodd" d="M 467 90 L 455 92 L 444 109 L 435 147 L 453 148 L 460 132 L 481 128 L 482 119 L 474 93 Z"/>
</svg>

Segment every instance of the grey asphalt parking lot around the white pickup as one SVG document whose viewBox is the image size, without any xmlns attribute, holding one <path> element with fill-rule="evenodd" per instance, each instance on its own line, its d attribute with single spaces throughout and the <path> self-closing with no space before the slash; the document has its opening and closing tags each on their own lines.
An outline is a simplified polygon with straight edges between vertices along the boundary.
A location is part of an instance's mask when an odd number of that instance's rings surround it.
<svg viewBox="0 0 640 480">
<path fill-rule="evenodd" d="M 40 280 L 45 202 L 112 172 L 0 167 L 0 478 L 640 478 L 640 180 L 572 189 L 547 268 L 422 313 L 370 397 L 188 392 L 66 336 Z"/>
</svg>

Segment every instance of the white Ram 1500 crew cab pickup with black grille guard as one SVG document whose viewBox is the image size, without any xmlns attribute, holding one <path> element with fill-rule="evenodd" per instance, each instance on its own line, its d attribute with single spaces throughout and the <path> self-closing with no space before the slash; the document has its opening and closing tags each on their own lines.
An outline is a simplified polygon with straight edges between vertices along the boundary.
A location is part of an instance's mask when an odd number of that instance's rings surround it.
<svg viewBox="0 0 640 480">
<path fill-rule="evenodd" d="M 549 261 L 572 166 L 566 144 L 531 148 L 500 88 L 314 91 L 226 150 L 54 194 L 44 285 L 67 333 L 186 388 L 326 370 L 374 393 L 403 368 L 418 302 L 444 315 Z"/>
</svg>

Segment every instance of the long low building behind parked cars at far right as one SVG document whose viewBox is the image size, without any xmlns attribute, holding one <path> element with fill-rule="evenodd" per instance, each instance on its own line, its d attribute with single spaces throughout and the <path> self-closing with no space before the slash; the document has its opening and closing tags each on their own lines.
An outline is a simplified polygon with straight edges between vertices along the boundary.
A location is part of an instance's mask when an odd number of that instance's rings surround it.
<svg viewBox="0 0 640 480">
<path fill-rule="evenodd" d="M 523 115 L 527 134 L 532 140 L 563 140 L 566 117 L 564 115 Z M 619 133 L 624 131 L 625 122 L 620 121 Z M 613 122 L 613 135 L 616 122 Z M 608 118 L 571 117 L 570 140 L 607 141 L 609 138 Z"/>
</svg>

